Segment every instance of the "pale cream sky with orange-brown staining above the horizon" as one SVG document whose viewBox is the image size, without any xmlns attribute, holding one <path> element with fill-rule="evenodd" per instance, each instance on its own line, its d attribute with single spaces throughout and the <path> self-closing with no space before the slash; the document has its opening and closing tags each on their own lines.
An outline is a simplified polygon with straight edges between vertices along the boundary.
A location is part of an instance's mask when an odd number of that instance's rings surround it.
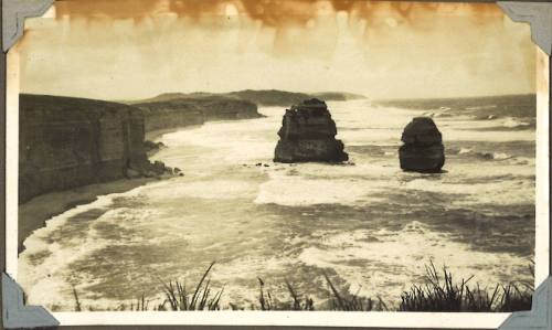
<svg viewBox="0 0 552 330">
<path fill-rule="evenodd" d="M 493 3 L 62 0 L 28 19 L 22 93 L 352 92 L 370 98 L 534 93 L 528 24 Z"/>
</svg>

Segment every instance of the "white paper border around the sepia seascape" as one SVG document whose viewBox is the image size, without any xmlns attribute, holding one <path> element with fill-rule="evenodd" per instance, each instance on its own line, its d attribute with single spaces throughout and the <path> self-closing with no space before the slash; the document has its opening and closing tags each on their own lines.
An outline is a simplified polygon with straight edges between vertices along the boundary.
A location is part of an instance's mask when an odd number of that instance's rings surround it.
<svg viewBox="0 0 552 330">
<path fill-rule="evenodd" d="M 44 18 L 52 18 L 52 11 Z M 539 47 L 535 156 L 535 287 L 550 275 L 550 57 Z M 19 55 L 6 71 L 6 273 L 18 278 Z M 542 87 L 544 86 L 544 87 Z M 305 326 L 497 329 L 509 312 L 116 311 L 52 312 L 61 326 Z"/>
</svg>

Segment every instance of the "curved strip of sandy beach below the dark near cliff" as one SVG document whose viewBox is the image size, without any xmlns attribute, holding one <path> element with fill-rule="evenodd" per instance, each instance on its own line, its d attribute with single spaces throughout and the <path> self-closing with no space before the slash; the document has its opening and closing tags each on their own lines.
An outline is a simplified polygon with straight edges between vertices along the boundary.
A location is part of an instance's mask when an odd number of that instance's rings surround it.
<svg viewBox="0 0 552 330">
<path fill-rule="evenodd" d="M 32 232 L 45 225 L 46 220 L 61 214 L 76 205 L 91 203 L 98 195 L 110 193 L 120 193 L 129 191 L 139 185 L 151 181 L 153 178 L 121 179 L 106 183 L 94 183 L 78 187 L 65 191 L 56 191 L 35 196 L 29 202 L 19 205 L 19 230 L 18 230 L 18 251 L 21 253 L 24 248 L 23 242 Z"/>
</svg>

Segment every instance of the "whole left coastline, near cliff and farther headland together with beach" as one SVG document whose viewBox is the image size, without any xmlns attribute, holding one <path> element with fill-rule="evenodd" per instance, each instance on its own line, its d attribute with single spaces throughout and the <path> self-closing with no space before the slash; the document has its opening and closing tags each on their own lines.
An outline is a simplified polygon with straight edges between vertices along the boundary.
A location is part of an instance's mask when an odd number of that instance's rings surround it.
<svg viewBox="0 0 552 330">
<path fill-rule="evenodd" d="M 209 120 L 258 117 L 255 104 L 227 98 L 129 106 L 20 95 L 19 251 L 56 214 L 98 195 L 183 175 L 148 159 L 163 148 L 153 142 L 160 135 Z"/>
</svg>

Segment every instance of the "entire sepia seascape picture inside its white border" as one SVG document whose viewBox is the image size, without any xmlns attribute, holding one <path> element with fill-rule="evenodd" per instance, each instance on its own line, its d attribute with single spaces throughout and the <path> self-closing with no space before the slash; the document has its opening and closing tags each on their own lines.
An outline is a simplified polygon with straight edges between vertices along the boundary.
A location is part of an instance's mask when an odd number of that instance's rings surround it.
<svg viewBox="0 0 552 330">
<path fill-rule="evenodd" d="M 531 310 L 545 65 L 496 3 L 55 1 L 8 54 L 17 283 L 52 312 Z"/>
</svg>

